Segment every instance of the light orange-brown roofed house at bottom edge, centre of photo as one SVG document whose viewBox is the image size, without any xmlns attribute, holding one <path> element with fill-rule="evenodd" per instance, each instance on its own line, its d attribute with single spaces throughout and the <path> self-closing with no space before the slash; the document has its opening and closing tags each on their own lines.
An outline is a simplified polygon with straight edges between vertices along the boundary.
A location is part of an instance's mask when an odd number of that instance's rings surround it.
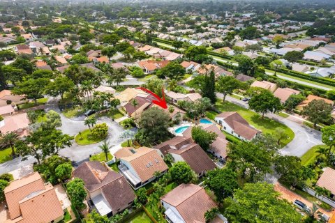
<svg viewBox="0 0 335 223">
<path fill-rule="evenodd" d="M 205 222 L 204 213 L 216 207 L 204 188 L 194 184 L 181 184 L 161 197 L 168 222 Z"/>
</svg>

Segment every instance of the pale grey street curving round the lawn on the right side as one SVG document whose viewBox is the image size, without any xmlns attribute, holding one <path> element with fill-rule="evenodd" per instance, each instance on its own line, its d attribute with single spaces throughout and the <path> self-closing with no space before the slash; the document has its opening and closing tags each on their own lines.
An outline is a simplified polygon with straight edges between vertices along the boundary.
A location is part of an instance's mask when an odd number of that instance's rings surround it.
<svg viewBox="0 0 335 223">
<path fill-rule="evenodd" d="M 223 98 L 221 93 L 217 94 L 219 98 Z M 236 98 L 232 98 L 229 95 L 226 100 L 233 102 L 241 107 L 248 109 L 248 102 L 243 102 Z M 306 153 L 311 147 L 323 144 L 321 141 L 321 132 L 302 125 L 301 120 L 290 116 L 290 118 L 283 118 L 278 116 L 278 114 L 267 114 L 269 118 L 272 118 L 284 125 L 287 125 L 293 132 L 295 132 L 295 138 L 281 149 L 283 155 L 295 155 L 301 157 Z"/>
</svg>

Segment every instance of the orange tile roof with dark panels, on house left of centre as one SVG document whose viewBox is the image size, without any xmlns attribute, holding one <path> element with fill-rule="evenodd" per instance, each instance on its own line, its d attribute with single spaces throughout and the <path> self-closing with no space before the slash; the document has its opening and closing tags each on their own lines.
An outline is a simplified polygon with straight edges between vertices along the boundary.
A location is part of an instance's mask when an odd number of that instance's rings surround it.
<svg viewBox="0 0 335 223">
<path fill-rule="evenodd" d="M 162 157 L 153 148 L 140 147 L 135 151 L 136 153 L 133 155 L 122 157 L 120 160 L 129 162 L 142 182 L 152 178 L 156 171 L 168 170 Z M 147 164 L 151 164 L 151 166 L 147 167 Z"/>
</svg>

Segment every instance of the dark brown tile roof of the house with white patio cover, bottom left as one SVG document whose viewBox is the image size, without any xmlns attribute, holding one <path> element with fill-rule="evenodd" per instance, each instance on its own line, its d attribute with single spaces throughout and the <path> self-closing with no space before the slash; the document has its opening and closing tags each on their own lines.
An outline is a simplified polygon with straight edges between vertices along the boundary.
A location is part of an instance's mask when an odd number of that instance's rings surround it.
<svg viewBox="0 0 335 223">
<path fill-rule="evenodd" d="M 73 171 L 73 176 L 82 178 L 89 192 L 101 190 L 113 213 L 129 206 L 135 193 L 123 175 L 107 169 L 101 162 L 84 162 Z"/>
</svg>

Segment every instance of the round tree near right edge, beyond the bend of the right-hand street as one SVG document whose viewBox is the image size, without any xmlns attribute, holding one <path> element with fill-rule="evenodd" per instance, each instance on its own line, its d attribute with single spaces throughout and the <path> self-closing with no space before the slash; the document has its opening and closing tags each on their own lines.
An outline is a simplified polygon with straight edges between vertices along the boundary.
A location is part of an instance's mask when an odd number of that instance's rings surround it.
<svg viewBox="0 0 335 223">
<path fill-rule="evenodd" d="M 332 105 L 329 105 L 324 100 L 312 100 L 302 109 L 302 116 L 307 117 L 316 125 L 322 121 L 328 121 L 332 112 Z"/>
</svg>

